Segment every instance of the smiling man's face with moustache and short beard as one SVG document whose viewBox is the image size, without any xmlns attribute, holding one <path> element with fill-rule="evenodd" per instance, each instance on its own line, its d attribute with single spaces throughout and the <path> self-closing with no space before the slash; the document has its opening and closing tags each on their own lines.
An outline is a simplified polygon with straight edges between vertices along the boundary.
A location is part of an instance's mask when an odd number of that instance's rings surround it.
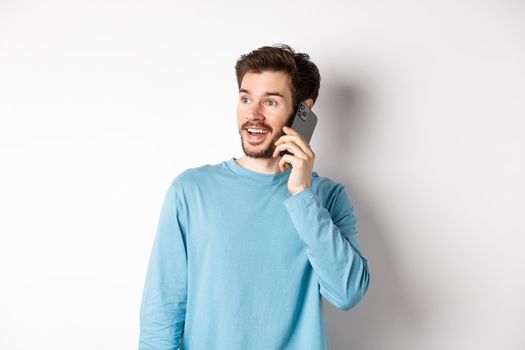
<svg viewBox="0 0 525 350">
<path fill-rule="evenodd" d="M 239 89 L 237 126 L 248 157 L 270 158 L 293 112 L 292 81 L 285 72 L 246 73 Z"/>
</svg>

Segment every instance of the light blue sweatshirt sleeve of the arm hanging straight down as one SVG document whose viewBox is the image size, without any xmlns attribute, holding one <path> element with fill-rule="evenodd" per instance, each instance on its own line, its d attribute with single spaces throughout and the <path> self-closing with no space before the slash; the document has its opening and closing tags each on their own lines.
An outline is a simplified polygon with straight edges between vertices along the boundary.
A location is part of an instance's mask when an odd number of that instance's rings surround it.
<svg viewBox="0 0 525 350">
<path fill-rule="evenodd" d="M 139 350 L 176 350 L 184 330 L 187 256 L 175 186 L 164 198 L 140 309 Z"/>
</svg>

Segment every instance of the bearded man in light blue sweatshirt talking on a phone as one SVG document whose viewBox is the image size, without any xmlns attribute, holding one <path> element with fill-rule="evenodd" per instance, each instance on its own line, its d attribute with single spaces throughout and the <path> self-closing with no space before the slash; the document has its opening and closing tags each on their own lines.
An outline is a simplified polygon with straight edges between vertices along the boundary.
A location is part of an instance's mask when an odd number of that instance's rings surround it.
<svg viewBox="0 0 525 350">
<path fill-rule="evenodd" d="M 242 55 L 236 73 L 244 156 L 169 187 L 141 350 L 329 349 L 321 296 L 348 310 L 368 288 L 345 187 L 313 172 L 315 153 L 285 126 L 299 102 L 313 106 L 317 67 L 281 45 Z"/>
</svg>

